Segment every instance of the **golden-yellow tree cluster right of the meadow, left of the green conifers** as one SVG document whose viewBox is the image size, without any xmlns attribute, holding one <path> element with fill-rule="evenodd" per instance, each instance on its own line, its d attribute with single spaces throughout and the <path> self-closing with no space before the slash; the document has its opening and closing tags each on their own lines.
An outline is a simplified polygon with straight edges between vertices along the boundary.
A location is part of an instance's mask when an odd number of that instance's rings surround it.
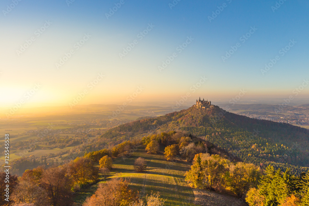
<svg viewBox="0 0 309 206">
<path fill-rule="evenodd" d="M 186 180 L 194 188 L 216 191 L 228 190 L 243 197 L 256 187 L 262 172 L 259 167 L 243 162 L 231 162 L 220 155 L 196 154 Z"/>
</svg>

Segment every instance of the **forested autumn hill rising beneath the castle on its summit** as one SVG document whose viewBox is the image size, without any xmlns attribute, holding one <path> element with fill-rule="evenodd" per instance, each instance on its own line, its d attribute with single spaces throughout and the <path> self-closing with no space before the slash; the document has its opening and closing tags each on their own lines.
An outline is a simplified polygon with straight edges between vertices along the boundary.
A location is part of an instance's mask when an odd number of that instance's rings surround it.
<svg viewBox="0 0 309 206">
<path fill-rule="evenodd" d="M 265 168 L 272 164 L 292 174 L 308 170 L 309 131 L 305 128 L 257 120 L 222 110 L 190 107 L 164 116 L 112 128 L 100 138 L 121 142 L 151 133 L 184 131 L 226 150 L 244 162 Z"/>
</svg>

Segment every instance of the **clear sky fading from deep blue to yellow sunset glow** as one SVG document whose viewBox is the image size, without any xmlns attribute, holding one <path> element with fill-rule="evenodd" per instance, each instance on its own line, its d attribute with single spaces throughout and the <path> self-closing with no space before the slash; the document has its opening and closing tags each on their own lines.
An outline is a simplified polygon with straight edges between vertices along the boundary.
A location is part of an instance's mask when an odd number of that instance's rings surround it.
<svg viewBox="0 0 309 206">
<path fill-rule="evenodd" d="M 0 9 L 0 107 L 309 94 L 307 0 L 2 0 Z"/>
</svg>

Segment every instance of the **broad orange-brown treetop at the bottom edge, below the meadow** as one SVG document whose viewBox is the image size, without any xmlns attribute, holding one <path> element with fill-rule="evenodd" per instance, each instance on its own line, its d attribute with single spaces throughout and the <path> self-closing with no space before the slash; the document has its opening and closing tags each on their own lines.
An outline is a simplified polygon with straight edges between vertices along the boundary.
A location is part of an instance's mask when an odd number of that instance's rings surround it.
<svg viewBox="0 0 309 206">
<path fill-rule="evenodd" d="M 83 206 L 129 206 L 138 200 L 138 195 L 129 188 L 127 179 L 111 179 L 100 184 L 95 194 L 87 198 Z"/>
</svg>

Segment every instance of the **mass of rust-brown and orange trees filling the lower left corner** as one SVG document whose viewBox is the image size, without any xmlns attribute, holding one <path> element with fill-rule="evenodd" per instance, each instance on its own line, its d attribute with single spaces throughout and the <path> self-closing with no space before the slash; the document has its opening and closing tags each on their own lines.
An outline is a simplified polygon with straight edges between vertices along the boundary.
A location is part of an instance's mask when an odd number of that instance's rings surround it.
<svg viewBox="0 0 309 206">
<path fill-rule="evenodd" d="M 5 176 L 5 173 L 1 175 Z M 98 170 L 87 158 L 76 158 L 68 164 L 48 169 L 40 166 L 26 170 L 18 179 L 11 176 L 10 202 L 1 197 L 0 205 L 70 206 L 73 192 L 94 183 L 97 178 Z M 0 185 L 1 192 L 3 186 Z"/>
</svg>

